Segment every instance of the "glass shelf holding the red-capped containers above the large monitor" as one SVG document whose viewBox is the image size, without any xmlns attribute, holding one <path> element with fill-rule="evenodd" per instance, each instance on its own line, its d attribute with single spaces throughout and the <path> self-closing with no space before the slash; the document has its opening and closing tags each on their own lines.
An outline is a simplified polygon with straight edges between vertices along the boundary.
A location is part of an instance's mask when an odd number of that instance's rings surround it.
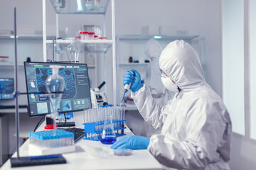
<svg viewBox="0 0 256 170">
<path fill-rule="evenodd" d="M 70 42 L 70 40 L 55 40 L 54 50 L 58 53 L 65 53 Z M 106 53 L 112 47 L 112 40 L 75 40 L 74 42 L 81 53 Z M 53 48 L 53 40 L 46 40 L 46 44 Z"/>
</svg>

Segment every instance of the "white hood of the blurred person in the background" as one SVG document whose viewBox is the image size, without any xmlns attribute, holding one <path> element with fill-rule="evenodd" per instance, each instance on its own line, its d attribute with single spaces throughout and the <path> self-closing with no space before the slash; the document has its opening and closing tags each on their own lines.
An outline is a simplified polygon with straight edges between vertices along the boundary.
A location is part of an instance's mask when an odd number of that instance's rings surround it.
<svg viewBox="0 0 256 170">
<path fill-rule="evenodd" d="M 154 58 L 154 60 L 158 61 L 161 51 L 161 45 L 157 40 L 150 39 L 146 42 L 145 54 L 150 59 Z"/>
</svg>

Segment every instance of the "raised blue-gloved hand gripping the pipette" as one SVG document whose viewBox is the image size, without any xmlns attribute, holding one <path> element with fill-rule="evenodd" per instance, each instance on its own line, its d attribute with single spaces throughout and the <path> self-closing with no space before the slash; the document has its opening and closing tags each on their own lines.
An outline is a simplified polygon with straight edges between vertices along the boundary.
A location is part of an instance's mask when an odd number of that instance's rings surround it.
<svg viewBox="0 0 256 170">
<path fill-rule="evenodd" d="M 125 84 L 132 82 L 130 89 L 132 92 L 135 92 L 142 88 L 142 81 L 139 72 L 137 72 L 135 69 L 130 69 L 130 71 L 134 72 L 134 74 L 131 72 L 125 72 L 123 84 L 125 86 Z"/>
</svg>

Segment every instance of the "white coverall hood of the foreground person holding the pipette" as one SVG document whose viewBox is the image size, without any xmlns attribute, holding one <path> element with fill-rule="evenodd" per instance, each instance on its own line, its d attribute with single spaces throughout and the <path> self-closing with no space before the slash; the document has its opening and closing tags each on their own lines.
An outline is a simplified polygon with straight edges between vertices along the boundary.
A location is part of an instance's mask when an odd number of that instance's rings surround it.
<svg viewBox="0 0 256 170">
<path fill-rule="evenodd" d="M 206 82 L 196 50 L 183 40 L 170 42 L 164 48 L 159 58 L 159 67 L 183 91 Z"/>
</svg>

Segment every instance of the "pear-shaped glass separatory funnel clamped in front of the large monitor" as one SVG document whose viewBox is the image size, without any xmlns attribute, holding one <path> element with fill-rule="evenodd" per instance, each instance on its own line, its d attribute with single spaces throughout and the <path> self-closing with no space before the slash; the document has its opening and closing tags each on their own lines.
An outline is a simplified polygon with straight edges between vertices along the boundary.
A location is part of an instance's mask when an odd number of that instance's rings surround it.
<svg viewBox="0 0 256 170">
<path fill-rule="evenodd" d="M 65 80 L 58 74 L 60 66 L 50 66 L 52 74 L 46 79 L 46 90 L 50 99 L 50 117 L 53 119 L 53 135 L 56 135 L 56 117 L 58 117 L 58 108 L 60 106 L 60 100 L 63 96 Z"/>
</svg>

